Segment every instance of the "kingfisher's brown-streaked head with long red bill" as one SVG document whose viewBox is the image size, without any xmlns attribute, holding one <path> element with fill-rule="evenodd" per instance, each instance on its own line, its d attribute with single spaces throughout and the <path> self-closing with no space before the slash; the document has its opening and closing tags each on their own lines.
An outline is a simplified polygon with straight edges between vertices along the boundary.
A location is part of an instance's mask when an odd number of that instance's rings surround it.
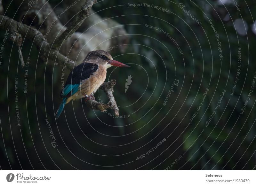
<svg viewBox="0 0 256 186">
<path fill-rule="evenodd" d="M 105 50 L 94 50 L 89 52 L 83 62 L 104 65 L 106 68 L 109 68 L 110 66 L 130 67 L 119 61 L 113 60 L 112 56 Z"/>
</svg>

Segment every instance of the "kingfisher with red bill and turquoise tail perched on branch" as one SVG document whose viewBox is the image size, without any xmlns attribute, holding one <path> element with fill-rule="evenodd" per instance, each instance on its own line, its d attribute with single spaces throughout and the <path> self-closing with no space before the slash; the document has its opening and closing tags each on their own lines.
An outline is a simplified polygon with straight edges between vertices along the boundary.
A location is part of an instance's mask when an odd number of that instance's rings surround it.
<svg viewBox="0 0 256 186">
<path fill-rule="evenodd" d="M 83 63 L 76 66 L 68 75 L 64 89 L 60 92 L 62 103 L 55 118 L 59 118 L 64 106 L 71 100 L 91 96 L 105 81 L 107 68 L 111 66 L 130 67 L 116 60 L 104 50 L 94 50 L 87 54 Z"/>
</svg>

